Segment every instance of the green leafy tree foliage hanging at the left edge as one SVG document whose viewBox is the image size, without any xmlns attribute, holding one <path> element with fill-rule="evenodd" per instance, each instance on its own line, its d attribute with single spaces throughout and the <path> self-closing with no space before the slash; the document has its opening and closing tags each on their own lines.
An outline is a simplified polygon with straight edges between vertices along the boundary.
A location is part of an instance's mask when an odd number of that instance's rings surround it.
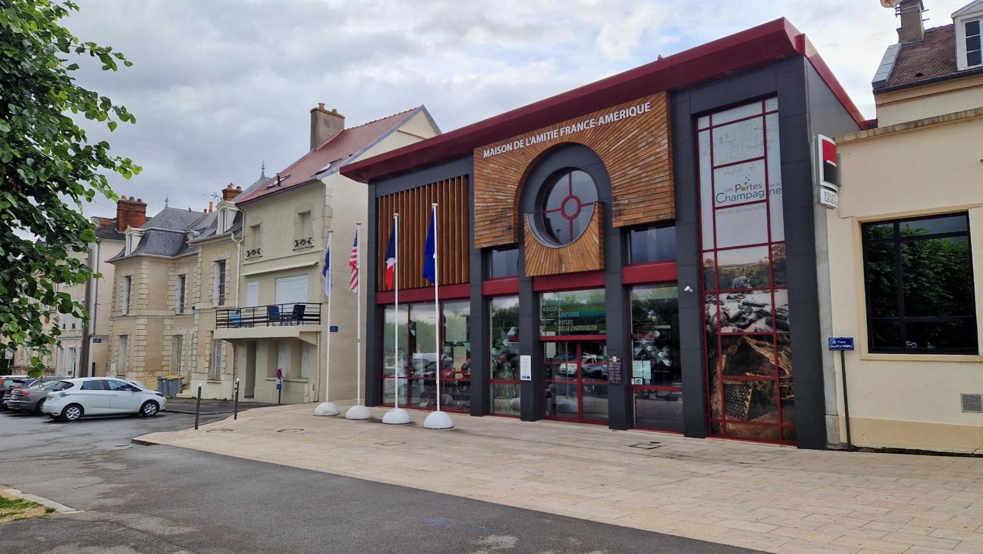
<svg viewBox="0 0 983 554">
<path fill-rule="evenodd" d="M 90 143 L 71 114 L 105 123 L 136 123 L 123 106 L 79 86 L 70 58 L 88 55 L 103 71 L 132 62 L 108 46 L 83 42 L 60 20 L 79 7 L 69 1 L 5 0 L 0 4 L 0 351 L 33 349 L 35 371 L 59 335 L 55 313 L 87 320 L 83 305 L 59 286 L 85 283 L 85 262 L 70 254 L 95 242 L 82 213 L 97 194 L 112 200 L 106 173 L 140 172 L 109 143 Z M 32 238 L 26 237 L 34 237 Z"/>
</svg>

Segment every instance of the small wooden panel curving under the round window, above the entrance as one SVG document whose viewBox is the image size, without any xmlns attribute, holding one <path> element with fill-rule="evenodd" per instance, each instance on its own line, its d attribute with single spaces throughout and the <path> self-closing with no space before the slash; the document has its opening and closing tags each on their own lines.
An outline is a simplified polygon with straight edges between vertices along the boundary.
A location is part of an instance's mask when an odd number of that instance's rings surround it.
<svg viewBox="0 0 983 554">
<path fill-rule="evenodd" d="M 574 273 L 577 271 L 597 271 L 605 268 L 604 206 L 594 204 L 594 215 L 579 239 L 564 247 L 548 247 L 541 243 L 530 228 L 529 220 L 523 218 L 525 225 L 526 275 L 539 277 Z"/>
</svg>

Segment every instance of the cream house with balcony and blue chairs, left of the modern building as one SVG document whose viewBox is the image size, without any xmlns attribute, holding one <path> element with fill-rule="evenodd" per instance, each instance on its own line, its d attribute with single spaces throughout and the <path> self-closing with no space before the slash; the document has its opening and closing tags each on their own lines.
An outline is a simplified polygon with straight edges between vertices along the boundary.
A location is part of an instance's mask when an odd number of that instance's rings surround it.
<svg viewBox="0 0 983 554">
<path fill-rule="evenodd" d="M 322 268 L 332 229 L 331 398 L 355 398 L 356 310 L 364 307 L 348 289 L 348 260 L 355 224 L 368 218 L 368 191 L 338 169 L 437 134 L 424 106 L 345 128 L 343 115 L 320 104 L 311 110 L 310 151 L 236 198 L 244 216 L 241 271 L 235 274 L 242 294 L 217 311 L 214 336 L 238 347 L 246 398 L 324 399 L 329 323 Z"/>
</svg>

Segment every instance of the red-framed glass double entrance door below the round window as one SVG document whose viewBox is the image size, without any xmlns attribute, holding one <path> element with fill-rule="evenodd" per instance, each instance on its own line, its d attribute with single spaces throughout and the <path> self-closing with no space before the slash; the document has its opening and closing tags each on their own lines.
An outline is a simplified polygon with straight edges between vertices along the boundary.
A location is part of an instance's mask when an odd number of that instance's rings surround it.
<svg viewBox="0 0 983 554">
<path fill-rule="evenodd" d="M 546 416 L 607 423 L 607 343 L 543 343 Z"/>
</svg>

